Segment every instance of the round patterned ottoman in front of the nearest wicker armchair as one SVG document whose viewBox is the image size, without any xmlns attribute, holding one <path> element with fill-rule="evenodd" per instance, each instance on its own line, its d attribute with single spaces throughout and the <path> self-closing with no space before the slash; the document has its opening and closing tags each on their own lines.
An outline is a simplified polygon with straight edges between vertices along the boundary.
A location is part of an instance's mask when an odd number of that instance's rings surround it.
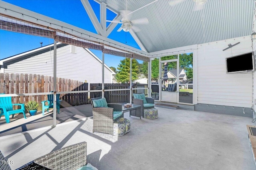
<svg viewBox="0 0 256 170">
<path fill-rule="evenodd" d="M 124 117 L 120 117 L 114 120 L 113 135 L 122 136 L 130 131 L 130 127 L 131 127 L 131 122 Z"/>
</svg>

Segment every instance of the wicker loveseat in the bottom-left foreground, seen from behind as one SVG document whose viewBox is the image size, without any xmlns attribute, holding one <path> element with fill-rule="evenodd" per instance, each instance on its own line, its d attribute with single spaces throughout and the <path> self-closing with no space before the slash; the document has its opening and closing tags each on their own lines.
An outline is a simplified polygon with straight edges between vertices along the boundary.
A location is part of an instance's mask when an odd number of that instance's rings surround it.
<svg viewBox="0 0 256 170">
<path fill-rule="evenodd" d="M 55 150 L 21 166 L 16 170 L 97 170 L 87 163 L 86 142 Z M 1 162 L 8 162 L 0 152 Z M 0 164 L 1 170 L 11 170 L 8 164 Z"/>
</svg>

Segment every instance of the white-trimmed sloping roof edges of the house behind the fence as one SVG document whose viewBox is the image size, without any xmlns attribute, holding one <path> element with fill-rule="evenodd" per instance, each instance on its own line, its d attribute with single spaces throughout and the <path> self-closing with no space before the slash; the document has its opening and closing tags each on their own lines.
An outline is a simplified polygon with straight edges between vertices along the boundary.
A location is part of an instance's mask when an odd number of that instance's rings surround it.
<svg viewBox="0 0 256 170">
<path fill-rule="evenodd" d="M 63 43 L 57 43 L 57 49 L 59 47 L 63 47 L 67 44 L 63 44 Z M 23 57 L 26 57 L 28 55 L 31 55 L 33 53 L 38 53 L 40 51 L 44 51 L 44 50 L 50 50 L 49 47 L 53 47 L 54 44 L 50 44 L 50 45 L 46 45 L 44 47 L 40 47 L 40 48 L 36 48 L 36 49 L 33 49 L 33 50 L 30 50 L 30 51 L 26 51 L 24 53 L 20 53 L 18 55 L 14 55 L 14 56 L 11 56 L 11 57 L 8 57 L 8 58 L 5 58 L 5 59 L 2 59 L 0 60 L 0 65 L 4 65 L 4 63 L 7 63 L 7 62 L 10 62 L 10 61 L 14 61 L 14 60 L 17 60 L 17 59 L 22 59 Z M 96 56 L 94 55 L 94 53 L 92 53 L 92 51 L 90 51 L 89 49 L 86 49 L 86 48 L 83 48 L 85 51 L 87 51 L 92 57 L 94 57 L 99 63 L 102 64 L 102 61 Z M 53 48 L 52 48 L 53 50 Z M 18 61 L 18 60 L 17 60 Z M 104 66 L 111 72 L 111 74 L 116 74 L 113 70 L 111 70 L 111 68 L 109 68 L 106 64 L 104 64 Z"/>
</svg>

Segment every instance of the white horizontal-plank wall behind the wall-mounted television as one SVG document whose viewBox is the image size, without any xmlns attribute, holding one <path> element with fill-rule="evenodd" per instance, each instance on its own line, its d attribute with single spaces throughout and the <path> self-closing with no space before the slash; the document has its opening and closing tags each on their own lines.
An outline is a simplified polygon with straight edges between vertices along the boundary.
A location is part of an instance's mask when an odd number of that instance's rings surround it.
<svg viewBox="0 0 256 170">
<path fill-rule="evenodd" d="M 222 51 L 228 44 L 240 44 Z M 226 58 L 252 51 L 250 36 L 198 45 L 198 103 L 252 107 L 252 73 L 226 73 Z"/>
</svg>

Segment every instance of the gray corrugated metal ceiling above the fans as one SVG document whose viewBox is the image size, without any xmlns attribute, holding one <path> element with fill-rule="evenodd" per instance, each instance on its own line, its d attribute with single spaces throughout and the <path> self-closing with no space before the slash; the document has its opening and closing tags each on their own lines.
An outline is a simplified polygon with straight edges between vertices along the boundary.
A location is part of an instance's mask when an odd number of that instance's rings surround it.
<svg viewBox="0 0 256 170">
<path fill-rule="evenodd" d="M 120 13 L 126 0 L 96 0 Z M 127 0 L 127 10 L 134 11 L 154 0 Z M 195 10 L 193 0 L 158 0 L 129 15 L 130 20 L 148 18 L 148 24 L 136 24 L 136 32 L 148 52 L 201 44 L 252 33 L 254 0 L 207 0 L 202 10 Z"/>
</svg>

